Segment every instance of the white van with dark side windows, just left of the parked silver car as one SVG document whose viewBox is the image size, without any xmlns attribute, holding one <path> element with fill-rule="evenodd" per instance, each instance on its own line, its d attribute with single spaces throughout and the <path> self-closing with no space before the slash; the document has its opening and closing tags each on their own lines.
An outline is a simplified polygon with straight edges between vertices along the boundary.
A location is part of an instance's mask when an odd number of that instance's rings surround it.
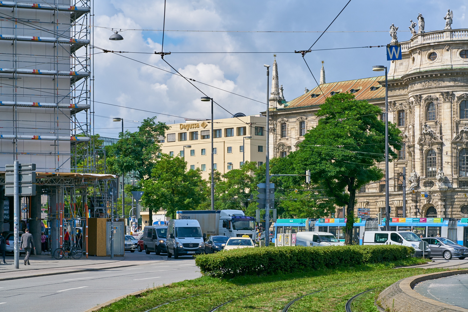
<svg viewBox="0 0 468 312">
<path fill-rule="evenodd" d="M 413 232 L 394 231 L 367 231 L 364 232 L 363 245 L 402 245 L 413 247 L 413 256 L 422 257 L 423 251 L 419 249 L 421 239 Z M 431 250 L 424 252 L 424 256 L 431 258 Z"/>
</svg>

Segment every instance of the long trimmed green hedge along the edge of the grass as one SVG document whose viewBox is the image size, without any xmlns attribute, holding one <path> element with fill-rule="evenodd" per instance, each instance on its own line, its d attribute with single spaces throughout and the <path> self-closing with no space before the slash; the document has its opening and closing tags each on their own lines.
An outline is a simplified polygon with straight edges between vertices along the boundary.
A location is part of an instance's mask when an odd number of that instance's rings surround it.
<svg viewBox="0 0 468 312">
<path fill-rule="evenodd" d="M 413 253 L 400 245 L 239 248 L 198 255 L 195 264 L 205 276 L 234 277 L 397 261 Z"/>
</svg>

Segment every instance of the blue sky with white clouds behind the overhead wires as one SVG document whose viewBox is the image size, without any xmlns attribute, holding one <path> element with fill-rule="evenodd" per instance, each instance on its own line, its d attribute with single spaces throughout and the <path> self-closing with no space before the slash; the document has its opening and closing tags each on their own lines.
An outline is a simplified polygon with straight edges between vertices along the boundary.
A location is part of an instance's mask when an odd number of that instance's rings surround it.
<svg viewBox="0 0 468 312">
<path fill-rule="evenodd" d="M 291 52 L 309 49 L 347 2 L 168 0 L 164 26 L 167 30 L 317 32 L 165 31 L 163 50 L 172 54 L 164 60 L 196 80 L 193 85 L 224 108 L 215 106 L 215 119 L 238 112 L 259 114 L 266 109 L 263 65 L 272 65 L 273 53 L 277 54 L 278 80 L 286 101 L 303 94 L 305 88 L 316 87 L 301 55 Z M 421 13 L 426 31 L 441 30 L 449 8 L 454 15 L 452 28 L 466 29 L 467 3 L 468 0 L 351 0 L 312 50 L 386 45 L 391 40 L 388 30 L 392 23 L 399 27 L 398 41 L 407 41 L 410 19 L 417 22 Z M 138 122 L 153 116 L 168 124 L 183 123 L 184 118 L 211 118 L 210 103 L 200 101 L 205 95 L 182 77 L 162 71 L 175 73 L 160 55 L 154 54 L 161 51 L 162 31 L 154 29 L 163 28 L 164 0 L 95 1 L 94 14 L 94 100 L 124 107 L 96 102 L 95 133 L 117 137 L 121 123 L 112 122 L 112 117 L 124 118 L 124 129 L 129 131 L 136 131 Z M 109 28 L 149 30 L 124 30 L 119 32 L 124 40 L 112 41 Z M 102 53 L 98 48 L 134 53 Z M 389 65 L 384 47 L 312 51 L 305 60 L 317 81 L 324 61 L 326 82 L 374 77 L 377 75 L 372 71 L 373 65 Z"/>
</svg>

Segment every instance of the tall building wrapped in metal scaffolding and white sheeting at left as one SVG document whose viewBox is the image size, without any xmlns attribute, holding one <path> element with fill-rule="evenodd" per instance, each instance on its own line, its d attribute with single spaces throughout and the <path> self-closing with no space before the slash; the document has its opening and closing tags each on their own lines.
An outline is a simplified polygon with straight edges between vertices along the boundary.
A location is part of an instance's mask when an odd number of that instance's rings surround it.
<svg viewBox="0 0 468 312">
<path fill-rule="evenodd" d="M 93 142 L 92 3 L 0 2 L 0 172 L 14 160 L 36 164 L 37 195 L 22 199 L 20 231 L 29 227 L 41 246 L 40 197 L 47 195 L 51 250 L 63 243 L 61 228 L 72 242 L 80 236 L 87 210 L 108 217 L 115 179 Z M 13 197 L 0 205 L 0 231 L 12 231 Z"/>
</svg>

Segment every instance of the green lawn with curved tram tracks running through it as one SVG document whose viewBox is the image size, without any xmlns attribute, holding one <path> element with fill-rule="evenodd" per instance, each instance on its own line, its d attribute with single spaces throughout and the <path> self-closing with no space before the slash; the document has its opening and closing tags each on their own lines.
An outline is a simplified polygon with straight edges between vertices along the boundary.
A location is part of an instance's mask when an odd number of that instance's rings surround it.
<svg viewBox="0 0 468 312">
<path fill-rule="evenodd" d="M 216 311 L 281 311 L 293 299 L 297 300 L 288 312 L 344 311 L 346 301 L 371 288 L 372 292 L 358 297 L 351 308 L 359 312 L 376 312 L 374 297 L 399 279 L 443 269 L 398 268 L 422 261 L 410 258 L 385 264 L 368 264 L 354 268 L 323 269 L 307 273 L 273 276 L 239 276 L 232 279 L 200 277 L 150 290 L 141 297 L 127 297 L 102 308 L 102 312 L 144 312 L 161 305 L 152 312 L 207 312 L 229 300 Z"/>
</svg>

